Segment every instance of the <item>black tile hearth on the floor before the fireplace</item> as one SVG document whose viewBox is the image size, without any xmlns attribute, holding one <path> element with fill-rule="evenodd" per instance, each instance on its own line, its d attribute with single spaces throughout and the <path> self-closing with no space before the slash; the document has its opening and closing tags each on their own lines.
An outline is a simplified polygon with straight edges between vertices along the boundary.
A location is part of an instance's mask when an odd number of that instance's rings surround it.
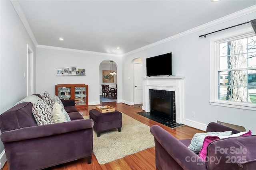
<svg viewBox="0 0 256 170">
<path fill-rule="evenodd" d="M 176 123 L 175 121 L 171 120 L 170 117 L 161 115 L 159 113 L 157 114 L 157 113 L 149 113 L 146 111 L 141 111 L 141 112 L 137 112 L 137 114 L 147 117 L 148 119 L 151 119 L 153 121 L 156 121 L 158 123 L 161 123 L 171 128 L 183 126 L 183 124 Z"/>
</svg>

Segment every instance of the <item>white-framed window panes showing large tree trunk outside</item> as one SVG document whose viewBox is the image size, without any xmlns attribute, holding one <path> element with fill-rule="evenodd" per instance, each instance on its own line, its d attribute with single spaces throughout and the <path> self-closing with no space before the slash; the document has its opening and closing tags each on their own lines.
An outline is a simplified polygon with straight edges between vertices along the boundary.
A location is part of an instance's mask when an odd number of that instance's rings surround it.
<svg viewBox="0 0 256 170">
<path fill-rule="evenodd" d="M 218 45 L 218 99 L 256 103 L 256 36 Z"/>
</svg>

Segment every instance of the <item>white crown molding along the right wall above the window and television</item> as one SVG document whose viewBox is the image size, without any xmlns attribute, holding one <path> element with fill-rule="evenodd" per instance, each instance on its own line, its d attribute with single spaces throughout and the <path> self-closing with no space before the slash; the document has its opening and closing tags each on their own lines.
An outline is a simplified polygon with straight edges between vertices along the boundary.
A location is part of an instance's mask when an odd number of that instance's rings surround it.
<svg viewBox="0 0 256 170">
<path fill-rule="evenodd" d="M 195 33 L 195 32 L 198 32 L 198 31 L 202 31 L 203 29 L 206 29 L 206 28 L 209 28 L 209 27 L 213 27 L 215 25 L 218 25 L 220 23 L 224 23 L 224 22 L 227 22 L 227 21 L 230 21 L 230 20 L 234 20 L 235 18 L 239 18 L 241 16 L 245 16 L 247 14 L 250 14 L 250 13 L 253 13 L 253 12 L 256 12 L 256 5 L 254 6 L 251 6 L 249 8 L 246 8 L 244 10 L 240 10 L 238 12 L 235 12 L 233 14 L 230 14 L 230 15 L 227 15 L 227 16 L 224 16 L 222 18 L 219 18 L 217 20 L 214 20 L 214 21 L 210 21 L 208 23 L 205 23 L 203 25 L 200 25 L 198 27 L 194 27 L 192 29 L 189 29 L 188 31 L 184 31 L 182 33 L 178 33 L 172 37 L 168 37 L 166 39 L 162 39 L 160 41 L 157 41 L 156 43 L 152 43 L 152 44 L 149 44 L 149 45 L 146 45 L 144 47 L 141 47 L 141 48 L 138 48 L 138 49 L 135 49 L 133 51 L 130 51 L 128 53 L 125 53 L 122 55 L 122 57 L 124 56 L 127 56 L 127 55 L 130 55 L 130 54 L 133 54 L 133 53 L 136 53 L 136 52 L 139 52 L 139 51 L 142 51 L 142 50 L 145 50 L 145 49 L 148 49 L 150 47 L 154 47 L 156 45 L 160 45 L 162 43 L 166 43 L 168 41 L 172 41 L 174 39 L 178 39 L 180 37 L 184 37 L 186 35 L 189 35 L 189 34 L 192 34 L 192 33 Z M 198 35 L 199 36 L 199 35 Z"/>
</svg>

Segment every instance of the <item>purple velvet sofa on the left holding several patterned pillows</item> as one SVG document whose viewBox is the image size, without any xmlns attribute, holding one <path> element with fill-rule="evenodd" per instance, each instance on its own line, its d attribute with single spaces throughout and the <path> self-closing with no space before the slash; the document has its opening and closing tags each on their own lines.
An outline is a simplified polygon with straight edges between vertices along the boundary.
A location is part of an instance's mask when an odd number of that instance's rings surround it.
<svg viewBox="0 0 256 170">
<path fill-rule="evenodd" d="M 71 121 L 38 126 L 30 102 L 20 103 L 0 115 L 0 137 L 9 170 L 43 169 L 80 158 L 91 163 L 93 121 L 83 119 L 74 100 L 62 103 Z"/>
</svg>

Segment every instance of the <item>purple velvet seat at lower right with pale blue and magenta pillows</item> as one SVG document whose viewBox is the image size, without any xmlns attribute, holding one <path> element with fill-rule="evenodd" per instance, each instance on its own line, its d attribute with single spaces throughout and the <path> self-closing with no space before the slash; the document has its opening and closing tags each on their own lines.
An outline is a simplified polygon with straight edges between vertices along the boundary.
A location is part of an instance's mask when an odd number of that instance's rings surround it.
<svg viewBox="0 0 256 170">
<path fill-rule="evenodd" d="M 212 122 L 207 126 L 206 132 L 213 131 L 239 133 L 235 129 Z M 256 167 L 256 135 L 212 141 L 207 147 L 208 159 L 204 161 L 188 149 L 191 139 L 178 140 L 158 125 L 150 127 L 150 132 L 155 138 L 158 170 L 253 170 Z"/>
</svg>

